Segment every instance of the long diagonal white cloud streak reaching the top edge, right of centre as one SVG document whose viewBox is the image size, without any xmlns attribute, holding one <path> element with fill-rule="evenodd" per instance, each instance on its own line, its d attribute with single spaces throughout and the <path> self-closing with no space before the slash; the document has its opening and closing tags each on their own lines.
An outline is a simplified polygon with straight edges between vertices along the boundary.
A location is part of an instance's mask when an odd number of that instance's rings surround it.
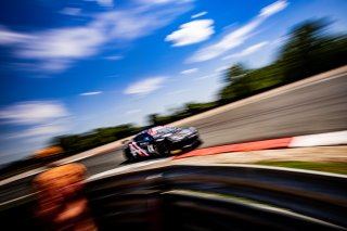
<svg viewBox="0 0 347 231">
<path fill-rule="evenodd" d="M 201 50 L 197 50 L 189 60 L 188 62 L 203 62 L 207 60 L 215 59 L 220 56 L 224 52 L 242 44 L 246 39 L 250 37 L 253 30 L 255 30 L 267 17 L 270 15 L 285 9 L 287 2 L 284 0 L 279 0 L 273 4 L 270 4 L 259 12 L 259 14 L 250 21 L 248 24 L 244 25 L 243 27 L 229 33 L 218 42 L 207 46 Z"/>
</svg>

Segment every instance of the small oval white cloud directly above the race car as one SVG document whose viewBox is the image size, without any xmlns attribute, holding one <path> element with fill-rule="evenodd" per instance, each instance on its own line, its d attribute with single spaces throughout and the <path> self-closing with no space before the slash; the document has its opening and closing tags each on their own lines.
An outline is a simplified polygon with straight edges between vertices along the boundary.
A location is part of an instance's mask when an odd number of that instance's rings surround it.
<svg viewBox="0 0 347 231">
<path fill-rule="evenodd" d="M 140 81 L 137 81 L 137 82 L 130 85 L 125 90 L 125 93 L 126 94 L 138 94 L 138 95 L 149 94 L 149 93 L 159 89 L 166 79 L 167 79 L 167 77 L 163 77 L 163 76 L 142 79 Z"/>
</svg>

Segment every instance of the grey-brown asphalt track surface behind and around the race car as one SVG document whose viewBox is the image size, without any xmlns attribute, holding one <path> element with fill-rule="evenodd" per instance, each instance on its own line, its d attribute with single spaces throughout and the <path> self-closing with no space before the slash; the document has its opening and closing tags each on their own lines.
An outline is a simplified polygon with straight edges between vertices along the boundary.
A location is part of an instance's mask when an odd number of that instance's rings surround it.
<svg viewBox="0 0 347 231">
<path fill-rule="evenodd" d="M 196 127 L 204 146 L 271 138 L 347 130 L 347 74 L 281 92 L 227 112 L 188 121 Z M 127 164 L 120 150 L 78 161 L 88 175 Z M 31 192 L 33 177 L 0 190 L 0 203 Z"/>
</svg>

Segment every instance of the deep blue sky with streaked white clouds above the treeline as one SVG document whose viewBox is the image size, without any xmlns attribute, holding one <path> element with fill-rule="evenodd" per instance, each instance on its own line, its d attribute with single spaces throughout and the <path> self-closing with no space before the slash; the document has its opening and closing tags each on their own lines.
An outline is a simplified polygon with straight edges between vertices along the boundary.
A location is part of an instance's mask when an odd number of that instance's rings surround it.
<svg viewBox="0 0 347 231">
<path fill-rule="evenodd" d="M 0 163 L 54 136 L 216 99 L 226 67 L 267 65 L 293 25 L 345 0 L 4 0 L 0 3 Z"/>
</svg>

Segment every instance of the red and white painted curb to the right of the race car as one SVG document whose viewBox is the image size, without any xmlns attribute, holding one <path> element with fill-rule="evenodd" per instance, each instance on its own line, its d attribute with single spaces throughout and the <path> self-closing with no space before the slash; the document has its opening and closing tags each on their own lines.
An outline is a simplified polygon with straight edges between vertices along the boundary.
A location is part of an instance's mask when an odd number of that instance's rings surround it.
<svg viewBox="0 0 347 231">
<path fill-rule="evenodd" d="M 298 137 L 279 138 L 271 140 L 253 141 L 246 143 L 228 144 L 221 146 L 194 150 L 183 155 L 175 156 L 174 159 L 191 156 L 214 155 L 230 152 L 249 152 L 271 149 L 329 146 L 347 144 L 347 131 L 307 134 Z"/>
</svg>

